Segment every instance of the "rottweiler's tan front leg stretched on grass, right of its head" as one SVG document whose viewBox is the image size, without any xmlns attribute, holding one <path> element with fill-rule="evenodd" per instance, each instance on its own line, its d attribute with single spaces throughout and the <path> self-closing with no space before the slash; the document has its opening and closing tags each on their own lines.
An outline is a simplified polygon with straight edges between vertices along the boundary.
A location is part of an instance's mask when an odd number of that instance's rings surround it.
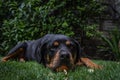
<svg viewBox="0 0 120 80">
<path fill-rule="evenodd" d="M 88 58 L 80 58 L 79 62 L 76 65 L 86 65 L 87 67 L 92 68 L 92 69 L 101 69 L 102 68 L 101 66 L 92 62 Z"/>
</svg>

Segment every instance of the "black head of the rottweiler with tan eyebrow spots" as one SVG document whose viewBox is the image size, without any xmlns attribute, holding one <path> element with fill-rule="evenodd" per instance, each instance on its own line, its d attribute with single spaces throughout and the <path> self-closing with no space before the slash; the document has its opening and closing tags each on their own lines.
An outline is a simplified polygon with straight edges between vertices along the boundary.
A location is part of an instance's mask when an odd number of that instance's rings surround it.
<svg viewBox="0 0 120 80">
<path fill-rule="evenodd" d="M 80 58 L 79 43 L 65 35 L 49 35 L 43 39 L 41 47 L 42 62 L 55 71 L 73 69 Z"/>
</svg>

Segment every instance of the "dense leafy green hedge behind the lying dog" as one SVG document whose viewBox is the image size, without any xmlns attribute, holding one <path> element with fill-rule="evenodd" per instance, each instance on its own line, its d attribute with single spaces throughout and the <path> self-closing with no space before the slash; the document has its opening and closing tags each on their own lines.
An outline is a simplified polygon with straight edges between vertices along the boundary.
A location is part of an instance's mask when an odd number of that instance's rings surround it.
<svg viewBox="0 0 120 80">
<path fill-rule="evenodd" d="M 0 0 L 0 48 L 48 33 L 73 36 L 76 28 L 94 36 L 102 10 L 95 0 Z"/>
</svg>

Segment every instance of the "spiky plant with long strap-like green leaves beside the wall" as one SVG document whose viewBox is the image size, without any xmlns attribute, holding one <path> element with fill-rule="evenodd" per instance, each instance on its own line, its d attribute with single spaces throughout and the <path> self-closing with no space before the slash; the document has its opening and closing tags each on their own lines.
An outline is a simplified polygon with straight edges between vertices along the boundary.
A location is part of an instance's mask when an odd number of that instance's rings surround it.
<svg viewBox="0 0 120 80">
<path fill-rule="evenodd" d="M 109 51 L 112 53 L 115 60 L 120 60 L 120 48 L 119 48 L 119 41 L 120 41 L 120 31 L 118 28 L 109 32 L 109 37 L 102 35 L 101 36 L 103 42 L 105 43 L 101 48 L 104 51 Z"/>
</svg>

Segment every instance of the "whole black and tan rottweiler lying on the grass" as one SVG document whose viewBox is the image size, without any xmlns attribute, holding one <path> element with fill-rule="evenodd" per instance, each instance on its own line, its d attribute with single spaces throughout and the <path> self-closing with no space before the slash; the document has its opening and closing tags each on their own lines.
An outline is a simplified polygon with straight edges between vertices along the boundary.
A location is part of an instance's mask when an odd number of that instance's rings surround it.
<svg viewBox="0 0 120 80">
<path fill-rule="evenodd" d="M 84 56 L 78 41 L 62 34 L 47 34 L 37 40 L 21 42 L 2 61 L 16 58 L 36 61 L 54 71 L 72 70 L 79 65 L 101 68 Z"/>
</svg>

